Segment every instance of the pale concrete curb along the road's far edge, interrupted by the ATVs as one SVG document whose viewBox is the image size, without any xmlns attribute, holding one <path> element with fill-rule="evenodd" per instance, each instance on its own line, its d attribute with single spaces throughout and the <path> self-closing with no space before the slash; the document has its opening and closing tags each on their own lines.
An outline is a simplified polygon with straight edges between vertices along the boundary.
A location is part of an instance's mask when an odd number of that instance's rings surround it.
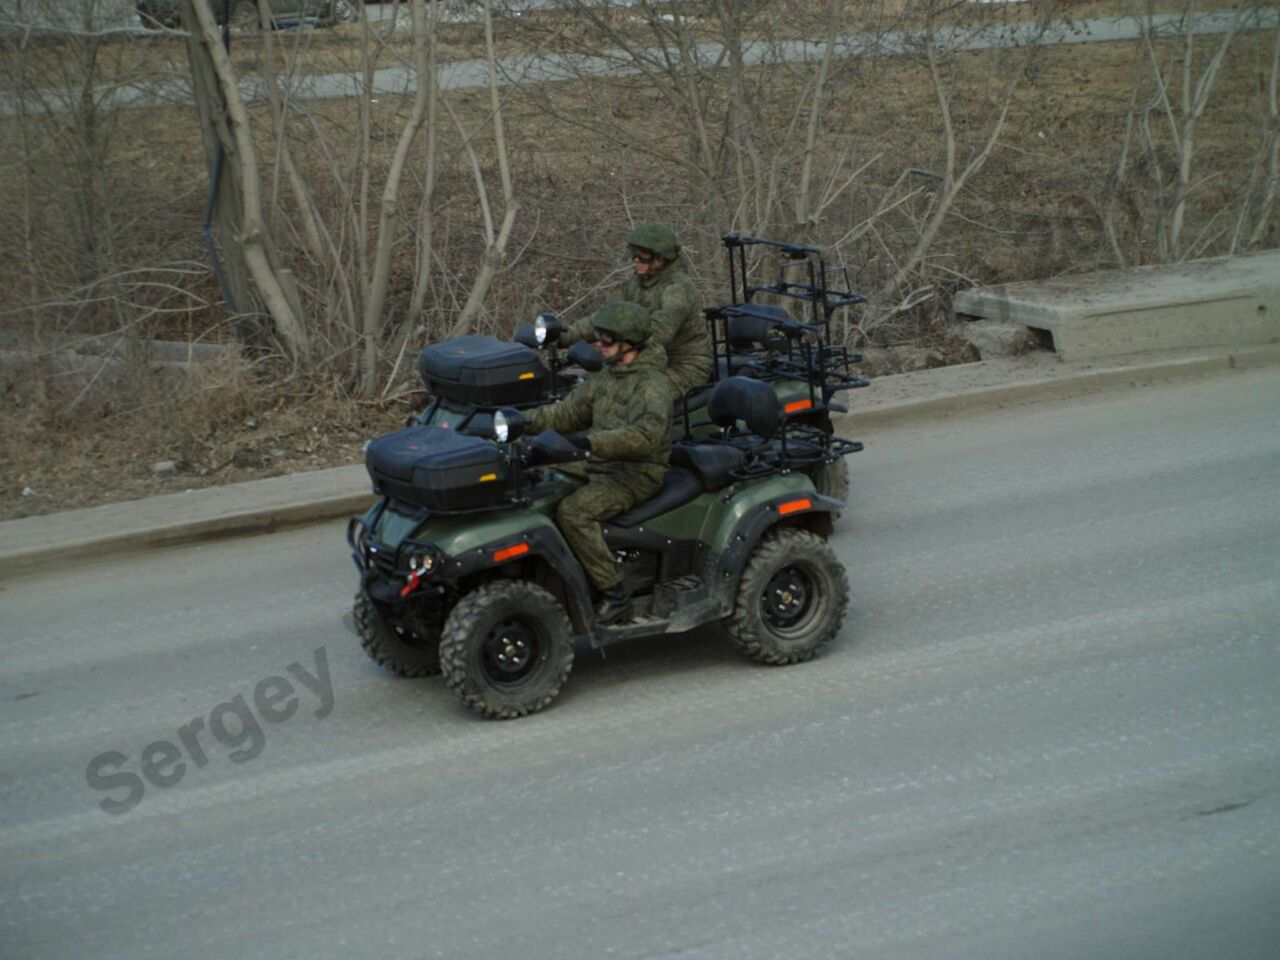
<svg viewBox="0 0 1280 960">
<path fill-rule="evenodd" d="M 836 425 L 841 433 L 846 433 L 915 419 L 998 410 L 1011 403 L 1065 399 L 1108 388 L 1252 370 L 1276 364 L 1280 364 L 1280 347 L 1166 358 L 1101 370 L 1070 370 L 1055 365 L 1042 367 L 1043 375 L 1039 379 L 950 390 L 938 388 L 934 383 L 933 396 L 878 403 L 837 417 Z M 923 379 L 927 380 L 928 374 L 957 370 L 960 369 L 940 367 L 936 371 L 923 371 Z M 1023 375 L 1025 376 L 1025 371 Z M 922 379 L 913 374 L 901 376 Z M 888 379 L 891 378 L 882 378 Z M 945 379 L 945 375 L 938 379 Z M 928 385 L 924 389 L 928 390 Z M 266 534 L 352 516 L 365 511 L 372 502 L 367 484 L 364 466 L 352 465 L 3 521 L 0 580 L 59 564 L 92 563 L 105 556 Z M 165 521 L 163 517 L 166 512 L 177 518 Z"/>
</svg>

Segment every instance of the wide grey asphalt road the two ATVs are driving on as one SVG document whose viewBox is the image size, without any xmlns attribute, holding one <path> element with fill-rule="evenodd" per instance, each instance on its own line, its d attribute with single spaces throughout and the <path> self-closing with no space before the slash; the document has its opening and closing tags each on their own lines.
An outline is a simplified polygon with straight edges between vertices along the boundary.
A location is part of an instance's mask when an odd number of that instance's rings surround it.
<svg viewBox="0 0 1280 960">
<path fill-rule="evenodd" d="M 338 524 L 9 581 L 0 955 L 1274 957 L 1277 424 L 1262 370 L 869 434 L 824 655 L 508 723 L 365 659 Z"/>
</svg>

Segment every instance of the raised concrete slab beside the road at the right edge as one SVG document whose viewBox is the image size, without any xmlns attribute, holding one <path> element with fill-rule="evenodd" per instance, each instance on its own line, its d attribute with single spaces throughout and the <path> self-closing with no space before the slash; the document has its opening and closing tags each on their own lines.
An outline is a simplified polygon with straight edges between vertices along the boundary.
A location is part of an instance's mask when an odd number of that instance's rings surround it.
<svg viewBox="0 0 1280 960">
<path fill-rule="evenodd" d="M 1070 361 L 1280 343 L 1280 251 L 961 291 L 955 310 L 1047 330 Z"/>
</svg>

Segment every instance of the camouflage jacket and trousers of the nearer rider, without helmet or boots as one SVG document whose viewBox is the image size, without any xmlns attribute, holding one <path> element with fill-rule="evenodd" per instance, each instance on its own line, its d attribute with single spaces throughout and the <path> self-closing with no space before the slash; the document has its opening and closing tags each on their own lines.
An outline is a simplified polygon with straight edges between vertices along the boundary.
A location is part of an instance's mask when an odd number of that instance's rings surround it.
<svg viewBox="0 0 1280 960">
<path fill-rule="evenodd" d="M 602 591 L 621 580 L 602 524 L 653 497 L 667 474 L 671 389 L 666 369 L 666 352 L 650 342 L 630 365 L 609 364 L 564 399 L 530 415 L 531 431 L 590 428 L 591 458 L 557 467 L 585 475 L 588 483 L 561 500 L 556 524 Z"/>
</svg>

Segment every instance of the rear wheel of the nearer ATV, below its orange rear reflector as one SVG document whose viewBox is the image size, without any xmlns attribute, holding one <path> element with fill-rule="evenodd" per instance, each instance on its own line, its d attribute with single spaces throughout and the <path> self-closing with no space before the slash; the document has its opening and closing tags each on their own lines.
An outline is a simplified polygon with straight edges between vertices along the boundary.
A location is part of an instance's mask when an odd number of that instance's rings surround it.
<svg viewBox="0 0 1280 960">
<path fill-rule="evenodd" d="M 800 663 L 836 635 L 847 604 L 845 568 L 831 544 L 808 530 L 781 527 L 751 553 L 723 623 L 751 659 Z"/>
</svg>

